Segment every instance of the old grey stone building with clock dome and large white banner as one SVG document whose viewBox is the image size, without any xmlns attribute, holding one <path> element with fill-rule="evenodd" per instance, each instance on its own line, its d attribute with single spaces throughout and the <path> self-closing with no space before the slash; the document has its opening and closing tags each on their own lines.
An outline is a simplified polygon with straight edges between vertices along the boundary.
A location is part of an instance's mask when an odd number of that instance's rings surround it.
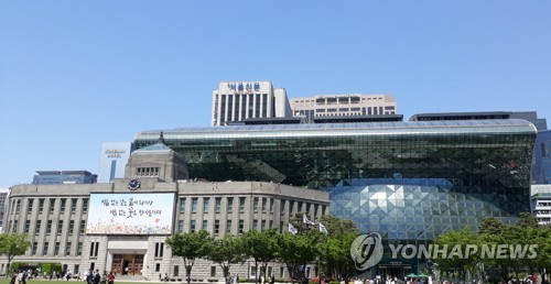
<svg viewBox="0 0 551 284">
<path fill-rule="evenodd" d="M 266 182 L 190 179 L 186 160 L 159 143 L 132 152 L 125 178 L 104 184 L 17 185 L 7 200 L 3 232 L 28 233 L 31 248 L 14 261 L 58 262 L 63 271 L 89 269 L 184 278 L 181 258 L 165 245 L 175 232 L 206 229 L 215 238 L 287 228 L 290 216 L 328 214 L 328 194 Z M 0 259 L 0 272 L 7 260 Z M 231 269 L 255 276 L 248 263 Z M 269 267 L 285 276 L 279 264 Z M 220 278 L 217 264 L 198 260 L 192 277 Z"/>
</svg>

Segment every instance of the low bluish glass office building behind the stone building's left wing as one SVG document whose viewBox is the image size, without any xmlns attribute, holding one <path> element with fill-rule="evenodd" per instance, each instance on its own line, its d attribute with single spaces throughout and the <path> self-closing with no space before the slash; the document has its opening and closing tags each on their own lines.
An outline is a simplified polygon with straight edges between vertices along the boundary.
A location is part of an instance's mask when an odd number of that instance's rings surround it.
<svg viewBox="0 0 551 284">
<path fill-rule="evenodd" d="M 88 171 L 36 171 L 33 177 L 35 185 L 58 185 L 58 184 L 95 184 L 98 175 Z"/>
</svg>

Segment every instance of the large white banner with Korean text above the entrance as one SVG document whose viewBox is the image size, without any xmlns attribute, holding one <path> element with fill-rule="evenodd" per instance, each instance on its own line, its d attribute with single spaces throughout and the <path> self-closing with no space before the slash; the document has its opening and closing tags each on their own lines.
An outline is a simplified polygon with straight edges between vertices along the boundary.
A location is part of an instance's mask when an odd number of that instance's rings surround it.
<svg viewBox="0 0 551 284">
<path fill-rule="evenodd" d="M 174 194 L 91 194 L 86 233 L 171 234 Z"/>
</svg>

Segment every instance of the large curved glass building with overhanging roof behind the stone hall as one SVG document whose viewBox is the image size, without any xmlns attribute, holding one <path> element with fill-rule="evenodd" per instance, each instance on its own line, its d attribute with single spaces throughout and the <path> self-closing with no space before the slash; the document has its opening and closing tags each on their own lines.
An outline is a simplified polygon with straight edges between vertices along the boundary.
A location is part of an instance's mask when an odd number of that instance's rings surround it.
<svg viewBox="0 0 551 284">
<path fill-rule="evenodd" d="M 388 240 L 432 240 L 530 211 L 537 130 L 525 120 L 239 125 L 164 130 L 190 177 L 331 193 L 331 212 Z M 137 148 L 160 131 L 136 136 Z"/>
</svg>

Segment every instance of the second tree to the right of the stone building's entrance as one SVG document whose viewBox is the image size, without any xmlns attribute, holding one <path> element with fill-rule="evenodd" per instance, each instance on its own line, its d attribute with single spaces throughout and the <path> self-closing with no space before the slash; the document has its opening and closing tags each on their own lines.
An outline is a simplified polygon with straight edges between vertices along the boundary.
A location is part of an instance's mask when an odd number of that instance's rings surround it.
<svg viewBox="0 0 551 284">
<path fill-rule="evenodd" d="M 231 264 L 244 263 L 247 260 L 242 240 L 234 234 L 225 234 L 223 239 L 214 240 L 206 258 L 220 265 L 224 277 L 229 275 Z"/>
</svg>

